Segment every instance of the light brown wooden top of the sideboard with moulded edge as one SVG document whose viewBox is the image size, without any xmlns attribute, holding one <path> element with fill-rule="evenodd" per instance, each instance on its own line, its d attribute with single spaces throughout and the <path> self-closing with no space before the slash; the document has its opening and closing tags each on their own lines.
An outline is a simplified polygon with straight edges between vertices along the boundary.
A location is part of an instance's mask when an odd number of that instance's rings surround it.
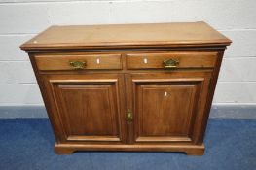
<svg viewBox="0 0 256 170">
<path fill-rule="evenodd" d="M 227 46 L 231 40 L 203 21 L 51 26 L 21 49 L 113 49 L 129 47 Z"/>
</svg>

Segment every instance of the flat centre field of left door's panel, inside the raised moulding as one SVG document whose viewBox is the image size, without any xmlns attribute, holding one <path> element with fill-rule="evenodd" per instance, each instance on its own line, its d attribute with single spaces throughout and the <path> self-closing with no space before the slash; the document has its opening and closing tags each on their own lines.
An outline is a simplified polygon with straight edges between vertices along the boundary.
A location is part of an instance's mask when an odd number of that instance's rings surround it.
<svg viewBox="0 0 256 170">
<path fill-rule="evenodd" d="M 60 85 L 72 135 L 117 135 L 111 86 Z M 78 119 L 79 118 L 79 119 Z"/>
</svg>

